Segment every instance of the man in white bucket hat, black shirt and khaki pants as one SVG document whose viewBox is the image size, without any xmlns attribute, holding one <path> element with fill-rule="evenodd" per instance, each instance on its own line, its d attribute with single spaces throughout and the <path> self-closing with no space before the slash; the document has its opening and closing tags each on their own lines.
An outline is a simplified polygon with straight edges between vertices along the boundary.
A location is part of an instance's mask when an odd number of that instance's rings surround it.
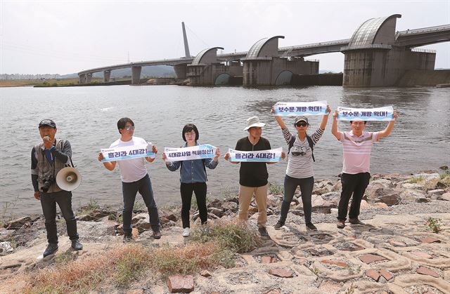
<svg viewBox="0 0 450 294">
<path fill-rule="evenodd" d="M 271 149 L 269 140 L 262 138 L 262 127 L 265 123 L 259 121 L 257 116 L 247 119 L 247 126 L 244 131 L 248 131 L 248 136 L 241 138 L 236 143 L 236 150 L 240 151 L 259 151 Z M 230 154 L 227 152 L 225 160 L 229 160 Z M 284 158 L 285 154 L 281 154 Z M 230 161 L 231 163 L 238 163 Z M 241 162 L 239 169 L 239 220 L 248 219 L 248 208 L 255 195 L 255 201 L 258 206 L 258 231 L 261 236 L 269 236 L 266 230 L 267 221 L 267 189 L 269 187 L 267 179 L 266 164 L 274 162 Z"/>
</svg>

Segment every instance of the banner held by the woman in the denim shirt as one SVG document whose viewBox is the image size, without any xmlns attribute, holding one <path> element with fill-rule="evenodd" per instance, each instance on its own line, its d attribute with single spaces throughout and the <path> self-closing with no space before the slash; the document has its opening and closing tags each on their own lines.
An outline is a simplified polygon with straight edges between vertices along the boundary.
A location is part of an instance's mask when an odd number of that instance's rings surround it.
<svg viewBox="0 0 450 294">
<path fill-rule="evenodd" d="M 164 148 L 166 161 L 185 161 L 213 158 L 216 156 L 216 150 L 217 147 L 209 144 L 181 148 Z"/>
</svg>

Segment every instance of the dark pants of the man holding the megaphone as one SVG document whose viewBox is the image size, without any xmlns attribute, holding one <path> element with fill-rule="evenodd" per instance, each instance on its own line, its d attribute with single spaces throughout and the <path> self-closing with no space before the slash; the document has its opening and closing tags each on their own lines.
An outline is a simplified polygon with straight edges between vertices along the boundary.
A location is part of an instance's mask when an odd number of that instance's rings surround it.
<svg viewBox="0 0 450 294">
<path fill-rule="evenodd" d="M 53 193 L 39 192 L 39 196 L 41 196 L 42 213 L 44 213 L 45 228 L 49 243 L 58 243 L 56 203 L 58 203 L 63 218 L 65 219 L 69 239 L 77 240 L 79 237 L 77 233 L 77 220 L 75 220 L 75 215 L 72 211 L 72 192 L 65 190 Z"/>
</svg>

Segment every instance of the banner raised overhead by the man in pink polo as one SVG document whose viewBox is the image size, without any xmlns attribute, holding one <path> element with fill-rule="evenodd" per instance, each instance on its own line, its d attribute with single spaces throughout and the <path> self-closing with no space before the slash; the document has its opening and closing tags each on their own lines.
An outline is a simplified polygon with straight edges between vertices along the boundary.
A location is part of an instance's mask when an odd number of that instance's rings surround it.
<svg viewBox="0 0 450 294">
<path fill-rule="evenodd" d="M 392 106 L 378 108 L 338 107 L 338 121 L 393 121 Z"/>
</svg>

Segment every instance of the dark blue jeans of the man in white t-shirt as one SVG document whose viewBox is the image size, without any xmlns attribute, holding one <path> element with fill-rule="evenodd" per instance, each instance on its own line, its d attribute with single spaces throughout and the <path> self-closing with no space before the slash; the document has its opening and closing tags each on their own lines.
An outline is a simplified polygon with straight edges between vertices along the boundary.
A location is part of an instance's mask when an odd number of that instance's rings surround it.
<svg viewBox="0 0 450 294">
<path fill-rule="evenodd" d="M 155 199 L 153 199 L 152 182 L 148 174 L 136 182 L 122 182 L 124 231 L 131 231 L 131 216 L 133 215 L 134 200 L 137 192 L 141 194 L 144 203 L 146 203 L 148 216 L 150 217 L 150 226 L 153 231 L 159 231 L 160 217 L 158 216 Z"/>
</svg>

